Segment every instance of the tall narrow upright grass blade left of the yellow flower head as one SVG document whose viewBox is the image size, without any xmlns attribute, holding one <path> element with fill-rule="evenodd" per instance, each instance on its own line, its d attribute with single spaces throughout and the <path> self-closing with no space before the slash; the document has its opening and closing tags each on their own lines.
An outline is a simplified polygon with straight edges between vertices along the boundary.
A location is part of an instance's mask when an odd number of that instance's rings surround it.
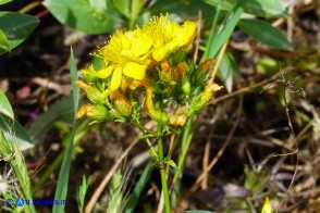
<svg viewBox="0 0 320 213">
<path fill-rule="evenodd" d="M 79 98 L 79 88 L 75 85 L 75 80 L 77 80 L 77 68 L 75 65 L 74 54 L 71 49 L 70 53 L 70 75 L 71 75 L 71 83 L 72 83 L 72 90 L 73 90 L 73 110 L 74 113 L 77 112 L 78 109 L 78 98 Z M 57 190 L 54 193 L 54 200 L 65 200 L 66 191 L 67 191 L 67 183 L 69 183 L 69 174 L 70 174 L 70 166 L 71 166 L 71 155 L 73 150 L 74 143 L 74 136 L 75 136 L 75 126 L 76 120 L 73 120 L 73 128 L 71 133 L 71 140 L 65 150 L 65 154 L 63 158 L 63 162 L 60 168 L 59 178 Z M 64 212 L 64 205 L 53 205 L 53 213 Z"/>
</svg>

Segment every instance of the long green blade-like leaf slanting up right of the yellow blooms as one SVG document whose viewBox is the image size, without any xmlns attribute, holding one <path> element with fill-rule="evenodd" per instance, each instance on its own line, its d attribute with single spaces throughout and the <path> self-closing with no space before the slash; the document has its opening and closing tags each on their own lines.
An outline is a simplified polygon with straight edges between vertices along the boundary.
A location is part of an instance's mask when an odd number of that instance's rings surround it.
<svg viewBox="0 0 320 213">
<path fill-rule="evenodd" d="M 211 47 L 207 47 L 209 48 L 209 59 L 214 58 L 223 43 L 230 38 L 243 11 L 243 3 L 241 1 L 239 3 L 236 3 L 232 11 L 229 13 L 229 15 L 218 29 L 218 33 L 214 35 Z"/>
</svg>

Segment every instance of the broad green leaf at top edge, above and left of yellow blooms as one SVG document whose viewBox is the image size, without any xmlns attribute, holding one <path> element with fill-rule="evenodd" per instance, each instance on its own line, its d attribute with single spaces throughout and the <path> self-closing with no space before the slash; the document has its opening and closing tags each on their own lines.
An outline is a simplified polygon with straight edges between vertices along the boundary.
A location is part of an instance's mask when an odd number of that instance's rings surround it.
<svg viewBox="0 0 320 213">
<path fill-rule="evenodd" d="M 87 34 L 103 34 L 123 21 L 109 0 L 46 0 L 45 7 L 62 24 Z"/>
</svg>

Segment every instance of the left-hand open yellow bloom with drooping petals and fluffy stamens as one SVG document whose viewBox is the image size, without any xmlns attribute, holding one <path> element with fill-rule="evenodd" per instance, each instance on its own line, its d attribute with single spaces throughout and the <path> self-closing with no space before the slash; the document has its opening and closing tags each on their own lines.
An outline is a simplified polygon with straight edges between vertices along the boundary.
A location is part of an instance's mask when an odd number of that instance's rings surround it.
<svg viewBox="0 0 320 213">
<path fill-rule="evenodd" d="M 107 78 L 111 75 L 110 90 L 121 86 L 122 76 L 141 80 L 150 63 L 149 50 L 151 42 L 144 39 L 139 29 L 135 32 L 116 32 L 110 41 L 100 49 L 99 57 L 106 68 L 97 72 L 97 77 Z"/>
</svg>

